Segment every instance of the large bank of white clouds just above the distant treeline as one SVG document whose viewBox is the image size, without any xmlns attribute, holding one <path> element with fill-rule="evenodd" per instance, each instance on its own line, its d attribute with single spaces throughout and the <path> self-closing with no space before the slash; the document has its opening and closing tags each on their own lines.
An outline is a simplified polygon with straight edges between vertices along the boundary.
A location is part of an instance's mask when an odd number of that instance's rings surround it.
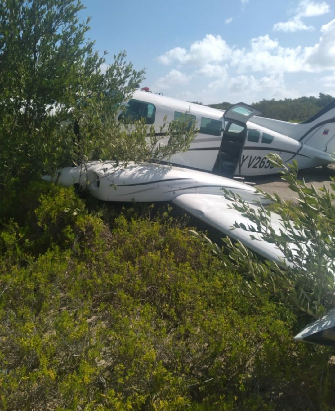
<svg viewBox="0 0 335 411">
<path fill-rule="evenodd" d="M 167 51 L 159 61 L 171 64 L 172 70 L 157 80 L 157 88 L 169 88 L 179 98 L 189 93 L 192 97 L 188 100 L 211 103 L 296 98 L 306 92 L 317 95 L 320 85 L 322 92 L 335 94 L 335 19 L 322 26 L 319 41 L 309 47 L 283 47 L 266 34 L 238 48 L 229 46 L 221 36 L 208 34 L 188 48 Z M 312 73 L 325 70 L 334 73 L 313 78 Z M 305 74 L 309 77 L 304 83 Z"/>
</svg>

